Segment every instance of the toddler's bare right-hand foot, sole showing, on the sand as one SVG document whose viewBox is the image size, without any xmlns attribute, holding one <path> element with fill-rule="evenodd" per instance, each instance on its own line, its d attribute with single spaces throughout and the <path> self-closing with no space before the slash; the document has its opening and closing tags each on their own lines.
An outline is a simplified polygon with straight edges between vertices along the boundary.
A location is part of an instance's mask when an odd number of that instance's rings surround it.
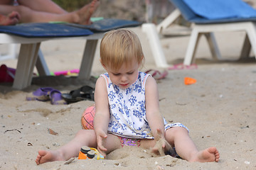
<svg viewBox="0 0 256 170">
<path fill-rule="evenodd" d="M 198 152 L 196 157 L 191 162 L 218 162 L 220 159 L 220 153 L 215 147 L 209 147 L 207 149 Z"/>
</svg>

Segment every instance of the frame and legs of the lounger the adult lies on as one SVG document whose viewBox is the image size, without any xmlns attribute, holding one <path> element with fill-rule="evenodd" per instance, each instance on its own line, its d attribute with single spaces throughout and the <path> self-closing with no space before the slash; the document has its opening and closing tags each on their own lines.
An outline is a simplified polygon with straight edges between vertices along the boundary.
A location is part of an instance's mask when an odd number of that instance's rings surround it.
<svg viewBox="0 0 256 170">
<path fill-rule="evenodd" d="M 80 64 L 78 79 L 90 79 L 92 62 L 95 56 L 97 42 L 102 38 L 103 33 L 95 33 L 88 36 L 74 37 L 86 40 L 85 50 Z M 39 50 L 41 42 L 46 40 L 60 40 L 64 38 L 24 38 L 21 36 L 0 33 L 0 44 L 18 43 L 21 44 L 18 54 L 18 63 L 14 78 L 14 89 L 24 89 L 31 85 L 33 68 L 37 66 L 40 75 L 49 75 L 48 67 L 44 61 L 43 54 Z M 65 38 L 67 39 L 67 38 Z M 38 57 L 39 55 L 39 57 Z M 38 61 L 38 64 L 36 62 Z"/>
</svg>

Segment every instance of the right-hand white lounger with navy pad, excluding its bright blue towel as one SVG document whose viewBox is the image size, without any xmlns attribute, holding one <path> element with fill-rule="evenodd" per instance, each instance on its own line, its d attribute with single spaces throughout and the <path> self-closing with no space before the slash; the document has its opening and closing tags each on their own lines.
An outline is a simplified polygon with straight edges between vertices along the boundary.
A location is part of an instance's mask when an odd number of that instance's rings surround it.
<svg viewBox="0 0 256 170">
<path fill-rule="evenodd" d="M 183 2 L 183 0 L 169 0 L 176 6 L 174 10 L 164 21 L 162 21 L 157 30 L 161 33 L 161 30 L 171 25 L 180 15 L 188 21 L 193 23 L 191 38 L 188 42 L 186 55 L 183 60 L 183 64 L 190 65 L 195 62 L 196 50 L 201 35 L 206 36 L 206 40 L 210 47 L 211 55 L 215 60 L 221 60 L 220 50 L 218 49 L 217 42 L 215 40 L 215 32 L 225 31 L 245 31 L 245 40 L 243 42 L 242 50 L 240 53 L 240 59 L 249 57 L 250 50 L 256 58 L 256 17 L 255 18 L 228 18 L 220 20 L 207 20 L 196 16 L 191 9 Z"/>
</svg>

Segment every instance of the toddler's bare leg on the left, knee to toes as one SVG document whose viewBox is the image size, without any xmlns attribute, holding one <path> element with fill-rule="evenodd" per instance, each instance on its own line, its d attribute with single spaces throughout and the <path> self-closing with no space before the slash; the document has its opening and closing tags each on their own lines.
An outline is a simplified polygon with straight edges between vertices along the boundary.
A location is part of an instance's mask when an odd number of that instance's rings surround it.
<svg viewBox="0 0 256 170">
<path fill-rule="evenodd" d="M 96 135 L 94 130 L 80 130 L 75 138 L 68 144 L 57 150 L 39 150 L 36 157 L 36 164 L 43 164 L 53 161 L 65 161 L 71 157 L 78 157 L 82 146 L 97 147 Z"/>
</svg>

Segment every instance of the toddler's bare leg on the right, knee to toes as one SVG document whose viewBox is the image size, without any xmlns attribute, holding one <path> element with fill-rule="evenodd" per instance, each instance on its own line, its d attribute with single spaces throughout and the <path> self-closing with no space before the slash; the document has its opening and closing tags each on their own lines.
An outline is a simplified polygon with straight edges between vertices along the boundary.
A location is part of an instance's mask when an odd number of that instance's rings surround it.
<svg viewBox="0 0 256 170">
<path fill-rule="evenodd" d="M 175 147 L 177 154 L 188 162 L 218 162 L 220 154 L 215 147 L 198 151 L 185 128 L 166 130 L 166 140 Z"/>
</svg>

